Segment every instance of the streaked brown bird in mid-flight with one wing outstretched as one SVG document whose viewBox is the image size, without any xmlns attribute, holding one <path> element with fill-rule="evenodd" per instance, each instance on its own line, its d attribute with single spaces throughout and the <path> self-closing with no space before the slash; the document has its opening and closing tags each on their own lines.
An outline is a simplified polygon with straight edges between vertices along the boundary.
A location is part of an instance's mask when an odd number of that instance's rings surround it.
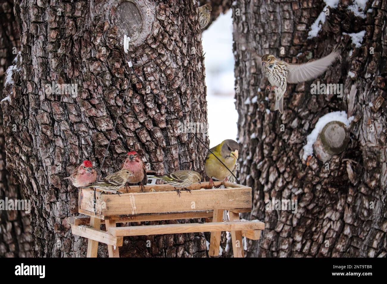
<svg viewBox="0 0 387 284">
<path fill-rule="evenodd" d="M 336 60 L 339 52 L 336 49 L 329 55 L 315 61 L 310 61 L 301 64 L 291 64 L 277 59 L 272 54 L 265 54 L 262 56 L 262 67 L 271 86 L 267 89 L 274 90 L 276 95 L 276 102 L 274 110 L 284 112 L 284 94 L 286 92 L 286 83 L 300 83 L 317 78 L 324 73 L 329 65 Z"/>
</svg>

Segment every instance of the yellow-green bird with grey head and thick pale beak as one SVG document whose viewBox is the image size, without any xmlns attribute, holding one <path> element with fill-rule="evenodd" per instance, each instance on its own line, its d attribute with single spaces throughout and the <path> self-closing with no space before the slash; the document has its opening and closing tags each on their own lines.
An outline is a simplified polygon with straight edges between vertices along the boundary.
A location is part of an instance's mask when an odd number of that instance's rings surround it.
<svg viewBox="0 0 387 284">
<path fill-rule="evenodd" d="M 239 144 L 233 139 L 226 139 L 219 145 L 211 148 L 212 153 L 216 155 L 230 170 L 235 167 L 236 160 L 238 160 Z M 227 176 L 230 174 L 229 170 L 224 167 L 214 157 L 210 151 L 205 158 L 204 170 L 207 177 L 210 178 L 210 186 L 214 186 L 212 179 L 227 181 Z"/>
</svg>

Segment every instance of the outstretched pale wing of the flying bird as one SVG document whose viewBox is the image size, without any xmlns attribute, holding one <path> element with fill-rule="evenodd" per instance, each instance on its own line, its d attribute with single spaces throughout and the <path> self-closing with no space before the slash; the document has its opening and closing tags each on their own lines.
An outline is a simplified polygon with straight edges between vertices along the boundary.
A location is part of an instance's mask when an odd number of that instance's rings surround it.
<svg viewBox="0 0 387 284">
<path fill-rule="evenodd" d="M 312 80 L 327 70 L 328 66 L 336 60 L 339 53 L 333 51 L 329 55 L 315 61 L 303 64 L 289 64 L 288 83 L 300 83 Z"/>
</svg>

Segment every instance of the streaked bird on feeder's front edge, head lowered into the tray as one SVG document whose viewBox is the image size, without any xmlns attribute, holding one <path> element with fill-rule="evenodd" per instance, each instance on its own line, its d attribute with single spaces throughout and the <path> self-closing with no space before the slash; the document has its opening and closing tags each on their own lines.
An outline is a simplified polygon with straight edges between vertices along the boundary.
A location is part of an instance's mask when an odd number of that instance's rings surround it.
<svg viewBox="0 0 387 284">
<path fill-rule="evenodd" d="M 191 192 L 191 190 L 187 189 L 186 187 L 190 186 L 191 184 L 200 184 L 202 180 L 200 173 L 192 170 L 179 170 L 173 173 L 166 173 L 165 175 L 149 175 L 149 177 L 164 180 L 164 182 L 167 184 L 173 185 L 179 196 L 180 190 L 176 189 L 176 187 Z"/>
</svg>

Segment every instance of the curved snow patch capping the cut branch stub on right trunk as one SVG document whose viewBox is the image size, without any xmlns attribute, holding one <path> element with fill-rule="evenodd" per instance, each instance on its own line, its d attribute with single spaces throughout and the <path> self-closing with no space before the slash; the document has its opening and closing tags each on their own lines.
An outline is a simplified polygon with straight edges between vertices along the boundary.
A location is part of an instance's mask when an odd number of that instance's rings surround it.
<svg viewBox="0 0 387 284">
<path fill-rule="evenodd" d="M 347 127 L 353 121 L 353 116 L 348 117 L 345 111 L 334 111 L 325 114 L 325 116 L 320 117 L 319 121 L 317 121 L 315 128 L 313 131 L 307 136 L 307 144 L 303 146 L 304 153 L 302 155 L 303 160 L 306 160 L 308 156 L 313 155 L 313 144 L 317 140 L 321 130 L 324 126 L 331 121 L 340 121 L 344 123 Z"/>
</svg>

